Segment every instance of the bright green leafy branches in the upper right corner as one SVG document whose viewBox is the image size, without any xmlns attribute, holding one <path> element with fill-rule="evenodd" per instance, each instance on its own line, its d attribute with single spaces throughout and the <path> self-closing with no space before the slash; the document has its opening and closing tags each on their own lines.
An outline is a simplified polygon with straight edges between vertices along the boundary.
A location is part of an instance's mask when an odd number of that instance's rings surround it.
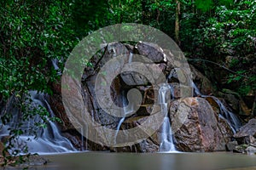
<svg viewBox="0 0 256 170">
<path fill-rule="evenodd" d="M 236 71 L 227 77 L 227 83 L 239 82 L 236 90 L 245 95 L 255 90 L 253 66 L 256 48 L 256 2 L 242 0 L 231 6 L 218 6 L 216 13 L 207 22 L 201 23 L 201 33 L 204 48 L 212 48 L 215 58 L 224 60 L 221 56 L 236 56 L 230 64 L 230 69 Z"/>
</svg>

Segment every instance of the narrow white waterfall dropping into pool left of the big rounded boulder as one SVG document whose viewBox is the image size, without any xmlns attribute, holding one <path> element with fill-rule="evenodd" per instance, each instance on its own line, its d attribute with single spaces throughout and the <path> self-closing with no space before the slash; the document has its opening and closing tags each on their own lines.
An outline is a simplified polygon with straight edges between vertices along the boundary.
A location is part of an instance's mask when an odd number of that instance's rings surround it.
<svg viewBox="0 0 256 170">
<path fill-rule="evenodd" d="M 172 139 L 172 127 L 168 117 L 168 102 L 173 98 L 173 88 L 167 83 L 160 85 L 158 102 L 161 106 L 161 113 L 165 115 L 160 127 L 160 151 L 176 151 Z"/>
</svg>

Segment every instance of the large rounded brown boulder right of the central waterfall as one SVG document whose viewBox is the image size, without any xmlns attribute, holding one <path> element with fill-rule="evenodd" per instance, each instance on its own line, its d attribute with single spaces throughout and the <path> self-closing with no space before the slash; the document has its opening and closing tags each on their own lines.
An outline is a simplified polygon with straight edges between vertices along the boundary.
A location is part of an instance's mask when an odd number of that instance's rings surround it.
<svg viewBox="0 0 256 170">
<path fill-rule="evenodd" d="M 169 112 L 176 146 L 181 151 L 225 150 L 232 131 L 227 122 L 218 118 L 206 99 L 186 98 L 173 101 Z M 180 115 L 178 115 L 180 114 Z M 178 125 L 177 116 L 183 117 Z M 179 127 L 175 129 L 176 127 Z"/>
</svg>

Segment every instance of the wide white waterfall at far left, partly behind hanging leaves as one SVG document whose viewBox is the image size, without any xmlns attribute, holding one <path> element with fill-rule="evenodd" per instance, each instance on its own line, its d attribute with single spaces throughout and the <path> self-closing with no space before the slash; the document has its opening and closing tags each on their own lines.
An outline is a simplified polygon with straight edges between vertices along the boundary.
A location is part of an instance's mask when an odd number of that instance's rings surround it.
<svg viewBox="0 0 256 170">
<path fill-rule="evenodd" d="M 37 91 L 30 91 L 31 100 L 27 105 L 29 108 L 35 109 L 40 106 L 44 107 L 48 112 L 49 116 L 54 116 L 53 111 L 51 110 L 48 100 L 46 99 L 46 94 L 39 94 Z M 15 105 L 10 105 L 9 107 L 15 107 Z M 6 131 L 9 127 L 16 127 L 20 122 L 20 115 L 18 109 L 11 109 L 13 114 L 12 120 L 1 129 L 0 133 L 3 137 L 9 135 L 9 131 Z M 55 122 L 48 120 L 46 127 L 36 127 L 36 122 L 43 122 L 40 116 L 32 116 L 29 120 L 22 122 L 23 134 L 18 137 L 18 140 L 15 142 L 15 147 L 18 150 L 21 150 L 25 145 L 28 148 L 29 153 L 38 153 L 38 154 L 48 154 L 55 152 L 70 152 L 75 151 L 71 142 L 61 135 L 60 130 L 56 126 Z M 38 138 L 34 138 L 34 133 L 31 130 L 35 130 Z M 5 131 L 5 132 L 4 132 Z"/>
</svg>

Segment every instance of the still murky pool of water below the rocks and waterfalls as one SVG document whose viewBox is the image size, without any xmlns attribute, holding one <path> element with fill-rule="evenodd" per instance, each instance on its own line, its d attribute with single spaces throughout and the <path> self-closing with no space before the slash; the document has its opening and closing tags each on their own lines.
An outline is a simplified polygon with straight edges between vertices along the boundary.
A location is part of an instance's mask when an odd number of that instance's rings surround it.
<svg viewBox="0 0 256 170">
<path fill-rule="evenodd" d="M 256 156 L 233 153 L 105 153 L 80 152 L 44 156 L 49 163 L 40 170 L 256 170 Z"/>
</svg>

